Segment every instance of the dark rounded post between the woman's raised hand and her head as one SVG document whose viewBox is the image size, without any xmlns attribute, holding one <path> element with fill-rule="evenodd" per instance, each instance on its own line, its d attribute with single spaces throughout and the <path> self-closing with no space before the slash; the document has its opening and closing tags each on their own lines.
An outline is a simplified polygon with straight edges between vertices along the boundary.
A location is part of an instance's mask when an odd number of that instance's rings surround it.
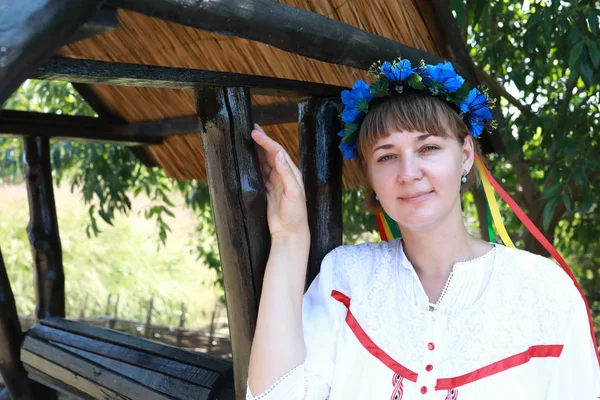
<svg viewBox="0 0 600 400">
<path fill-rule="evenodd" d="M 299 105 L 300 170 L 310 225 L 306 287 L 321 269 L 323 257 L 342 244 L 342 129 L 339 102 L 311 99 Z"/>
</svg>

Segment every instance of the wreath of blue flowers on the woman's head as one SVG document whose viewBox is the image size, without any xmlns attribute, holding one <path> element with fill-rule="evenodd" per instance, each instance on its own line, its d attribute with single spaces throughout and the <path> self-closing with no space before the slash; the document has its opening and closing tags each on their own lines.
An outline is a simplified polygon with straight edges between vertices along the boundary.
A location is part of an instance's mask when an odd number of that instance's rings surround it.
<svg viewBox="0 0 600 400">
<path fill-rule="evenodd" d="M 402 94 L 407 87 L 428 90 L 431 95 L 458 107 L 459 116 L 474 138 L 479 137 L 484 129 L 491 131 L 497 126 L 490 112 L 495 100 L 488 98 L 484 88 L 471 89 L 449 62 L 430 65 L 421 61 L 417 67 L 412 68 L 409 60 L 398 58 L 393 62 L 374 63 L 368 74 L 375 77 L 372 85 L 359 79 L 352 90 L 342 91 L 344 129 L 338 136 L 342 137 L 339 149 L 347 160 L 358 159 L 356 138 L 360 124 L 369 111 L 370 102 Z"/>
</svg>

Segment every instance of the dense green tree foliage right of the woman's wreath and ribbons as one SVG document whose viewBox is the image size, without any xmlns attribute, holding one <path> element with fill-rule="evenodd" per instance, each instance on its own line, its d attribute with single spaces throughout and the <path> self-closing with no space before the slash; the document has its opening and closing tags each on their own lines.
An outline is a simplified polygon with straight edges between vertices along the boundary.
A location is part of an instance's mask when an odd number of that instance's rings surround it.
<svg viewBox="0 0 600 400">
<path fill-rule="evenodd" d="M 484 84 L 501 99 L 493 174 L 600 312 L 600 8 L 596 1 L 452 0 Z M 508 210 L 519 247 L 544 254 Z"/>
</svg>

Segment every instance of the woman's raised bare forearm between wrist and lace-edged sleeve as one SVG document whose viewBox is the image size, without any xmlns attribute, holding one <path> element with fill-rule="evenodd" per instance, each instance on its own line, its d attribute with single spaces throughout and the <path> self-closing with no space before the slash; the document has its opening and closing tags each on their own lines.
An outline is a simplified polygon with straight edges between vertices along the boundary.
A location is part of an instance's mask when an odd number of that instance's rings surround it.
<svg viewBox="0 0 600 400">
<path fill-rule="evenodd" d="M 248 372 L 259 394 L 306 358 L 302 296 L 310 234 L 274 239 L 267 262 Z"/>
</svg>

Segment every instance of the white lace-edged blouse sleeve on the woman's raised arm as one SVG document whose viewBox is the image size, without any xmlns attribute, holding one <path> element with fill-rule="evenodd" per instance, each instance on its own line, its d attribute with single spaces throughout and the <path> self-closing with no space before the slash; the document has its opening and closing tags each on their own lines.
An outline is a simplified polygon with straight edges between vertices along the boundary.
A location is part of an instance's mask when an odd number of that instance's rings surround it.
<svg viewBox="0 0 600 400">
<path fill-rule="evenodd" d="M 306 359 L 280 377 L 261 394 L 246 387 L 246 400 L 325 400 L 329 397 L 335 368 L 337 339 L 346 307 L 331 297 L 337 251 L 327 254 L 321 271 L 304 294 L 302 330 Z M 339 265 L 337 267 L 340 267 Z"/>
</svg>

